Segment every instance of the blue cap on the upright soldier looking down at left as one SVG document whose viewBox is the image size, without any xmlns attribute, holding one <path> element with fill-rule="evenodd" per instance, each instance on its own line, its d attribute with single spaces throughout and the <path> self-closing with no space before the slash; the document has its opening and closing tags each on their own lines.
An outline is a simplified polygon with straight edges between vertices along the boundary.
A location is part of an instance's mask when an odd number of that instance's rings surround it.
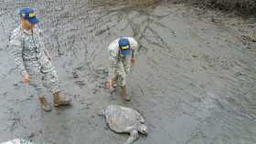
<svg viewBox="0 0 256 144">
<path fill-rule="evenodd" d="M 36 12 L 35 12 L 35 9 L 34 8 L 30 8 L 30 7 L 27 7 L 27 8 L 22 8 L 19 12 L 19 14 L 28 20 L 29 23 L 31 24 L 37 24 L 39 23 L 39 20 L 37 19 L 36 17 Z"/>
</svg>

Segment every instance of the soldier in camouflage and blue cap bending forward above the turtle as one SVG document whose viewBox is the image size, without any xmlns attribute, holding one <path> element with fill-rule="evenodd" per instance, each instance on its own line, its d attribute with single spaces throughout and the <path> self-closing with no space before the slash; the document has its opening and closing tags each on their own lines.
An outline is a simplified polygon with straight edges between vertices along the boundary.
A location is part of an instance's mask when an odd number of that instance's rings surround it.
<svg viewBox="0 0 256 144">
<path fill-rule="evenodd" d="M 120 86 L 122 97 L 129 101 L 127 94 L 125 77 L 131 71 L 131 66 L 135 64 L 135 56 L 138 43 L 133 37 L 118 38 L 109 45 L 110 69 L 107 87 Z"/>
</svg>

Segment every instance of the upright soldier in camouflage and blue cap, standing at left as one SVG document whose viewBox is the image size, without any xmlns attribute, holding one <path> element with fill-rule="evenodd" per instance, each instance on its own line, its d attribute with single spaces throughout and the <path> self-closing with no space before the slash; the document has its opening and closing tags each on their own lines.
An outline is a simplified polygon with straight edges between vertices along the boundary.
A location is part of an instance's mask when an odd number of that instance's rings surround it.
<svg viewBox="0 0 256 144">
<path fill-rule="evenodd" d="M 35 10 L 23 8 L 19 15 L 21 26 L 18 26 L 10 37 L 10 51 L 25 83 L 36 88 L 45 111 L 50 111 L 51 106 L 44 97 L 44 87 L 53 94 L 55 107 L 70 105 L 71 99 L 59 93 L 58 77 L 43 43 L 43 34 L 36 26 L 39 20 Z"/>
</svg>

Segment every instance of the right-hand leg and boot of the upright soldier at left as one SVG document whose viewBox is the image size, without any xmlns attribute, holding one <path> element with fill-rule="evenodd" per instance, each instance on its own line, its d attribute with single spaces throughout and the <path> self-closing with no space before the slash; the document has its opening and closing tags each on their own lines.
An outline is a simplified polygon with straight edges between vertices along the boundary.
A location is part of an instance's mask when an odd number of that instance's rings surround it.
<svg viewBox="0 0 256 144">
<path fill-rule="evenodd" d="M 44 86 L 53 94 L 55 107 L 70 105 L 71 99 L 60 95 L 59 80 L 55 68 L 49 61 L 41 67 Z"/>
</svg>

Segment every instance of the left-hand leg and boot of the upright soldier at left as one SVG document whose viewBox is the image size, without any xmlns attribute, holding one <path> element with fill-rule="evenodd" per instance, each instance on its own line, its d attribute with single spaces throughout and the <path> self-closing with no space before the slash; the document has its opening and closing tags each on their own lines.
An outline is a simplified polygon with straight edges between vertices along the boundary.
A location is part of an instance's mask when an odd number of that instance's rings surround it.
<svg viewBox="0 0 256 144">
<path fill-rule="evenodd" d="M 29 75 L 29 85 L 35 87 L 37 97 L 39 98 L 39 101 L 42 104 L 42 108 L 45 111 L 50 111 L 51 106 L 49 105 L 47 98 L 44 97 L 44 87 L 41 79 L 42 75 L 40 72 L 40 66 L 37 62 L 27 62 L 25 66 L 27 68 L 27 73 Z"/>
</svg>

